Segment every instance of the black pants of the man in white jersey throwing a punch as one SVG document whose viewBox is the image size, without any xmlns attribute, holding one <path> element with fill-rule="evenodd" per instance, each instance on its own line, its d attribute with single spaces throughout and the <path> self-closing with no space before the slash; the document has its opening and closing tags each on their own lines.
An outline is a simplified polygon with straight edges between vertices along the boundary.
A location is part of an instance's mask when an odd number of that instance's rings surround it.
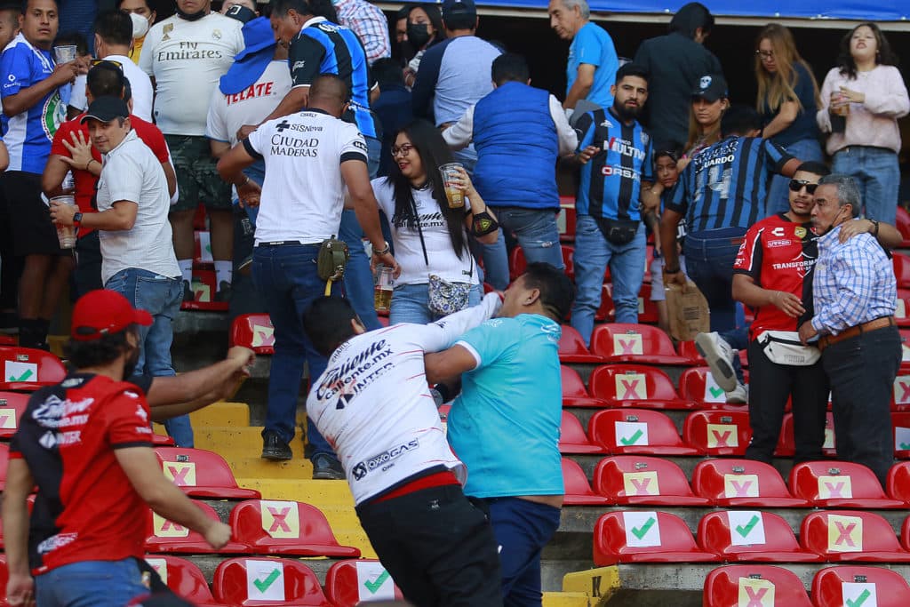
<svg viewBox="0 0 910 607">
<path fill-rule="evenodd" d="M 496 540 L 459 485 L 361 505 L 379 561 L 416 607 L 501 607 Z"/>
</svg>

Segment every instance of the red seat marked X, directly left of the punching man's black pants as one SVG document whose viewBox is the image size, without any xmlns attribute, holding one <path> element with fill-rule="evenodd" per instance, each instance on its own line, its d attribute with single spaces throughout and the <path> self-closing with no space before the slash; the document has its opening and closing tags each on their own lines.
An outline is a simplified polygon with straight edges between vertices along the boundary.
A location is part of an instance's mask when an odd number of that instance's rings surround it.
<svg viewBox="0 0 910 607">
<path fill-rule="evenodd" d="M 298 554 L 357 558 L 341 546 L 319 508 L 301 501 L 241 501 L 230 511 L 233 537 L 256 554 Z"/>
</svg>

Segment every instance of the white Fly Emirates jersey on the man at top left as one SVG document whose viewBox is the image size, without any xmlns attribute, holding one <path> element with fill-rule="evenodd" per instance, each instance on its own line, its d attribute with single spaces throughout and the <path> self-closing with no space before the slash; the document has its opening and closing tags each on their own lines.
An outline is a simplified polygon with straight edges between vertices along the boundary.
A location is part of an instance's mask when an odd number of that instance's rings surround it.
<svg viewBox="0 0 910 607">
<path fill-rule="evenodd" d="M 242 24 L 218 13 L 174 15 L 148 30 L 139 67 L 155 78 L 155 121 L 166 135 L 204 136 L 212 89 L 244 48 Z"/>
</svg>

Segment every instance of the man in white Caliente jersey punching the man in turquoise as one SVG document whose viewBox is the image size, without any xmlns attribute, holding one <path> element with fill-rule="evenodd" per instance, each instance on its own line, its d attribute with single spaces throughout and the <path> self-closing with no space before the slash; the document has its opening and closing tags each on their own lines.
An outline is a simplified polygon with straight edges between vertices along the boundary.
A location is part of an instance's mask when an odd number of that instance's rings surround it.
<svg viewBox="0 0 910 607">
<path fill-rule="evenodd" d="M 500 305 L 490 293 L 435 323 L 369 332 L 344 299 L 319 298 L 303 316 L 309 339 L 329 356 L 307 417 L 338 451 L 360 524 L 415 605 L 502 604 L 497 544 L 461 491 L 466 470 L 446 442 L 423 362 Z"/>
</svg>

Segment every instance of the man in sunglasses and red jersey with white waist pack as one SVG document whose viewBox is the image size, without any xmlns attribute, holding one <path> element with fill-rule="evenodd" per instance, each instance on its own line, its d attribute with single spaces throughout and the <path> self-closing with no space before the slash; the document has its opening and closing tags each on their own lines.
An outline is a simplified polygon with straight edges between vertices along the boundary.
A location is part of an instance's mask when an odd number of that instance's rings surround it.
<svg viewBox="0 0 910 607">
<path fill-rule="evenodd" d="M 753 309 L 749 329 L 749 423 L 752 441 L 747 458 L 770 463 L 784 420 L 788 398 L 793 399 L 794 461 L 822 458 L 828 378 L 821 359 L 813 364 L 773 362 L 763 344 L 765 331 L 786 331 L 797 345 L 796 333 L 813 317 L 812 271 L 818 257 L 812 229 L 815 187 L 830 174 L 822 163 L 805 162 L 790 181 L 790 210 L 764 218 L 746 232 L 733 264 L 733 298 Z M 870 232 L 885 247 L 901 241 L 896 228 L 858 219 L 844 226 L 844 239 Z M 786 334 L 777 334 L 787 339 Z M 798 359 L 796 356 L 792 360 Z M 810 359 L 806 359 L 810 360 Z"/>
</svg>

